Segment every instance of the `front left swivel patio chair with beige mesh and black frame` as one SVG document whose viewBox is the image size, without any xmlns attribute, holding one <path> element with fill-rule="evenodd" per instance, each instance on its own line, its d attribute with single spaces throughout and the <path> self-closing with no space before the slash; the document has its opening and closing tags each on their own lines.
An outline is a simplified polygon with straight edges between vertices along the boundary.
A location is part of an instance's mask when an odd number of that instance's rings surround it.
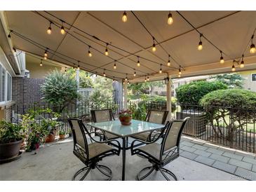
<svg viewBox="0 0 256 192">
<path fill-rule="evenodd" d="M 83 162 L 86 167 L 81 168 L 78 170 L 74 176 L 72 177 L 72 180 L 75 180 L 76 177 L 81 174 L 81 172 L 86 171 L 85 174 L 83 174 L 83 177 L 79 179 L 82 181 L 86 178 L 90 170 L 97 169 L 102 174 L 107 176 L 107 180 L 112 179 L 112 170 L 109 169 L 109 167 L 105 165 L 100 165 L 98 162 L 102 160 L 102 158 L 105 158 L 107 156 L 113 156 L 117 155 L 119 156 L 121 151 L 121 145 L 118 141 L 114 139 L 109 139 L 104 142 L 98 142 L 91 136 L 94 132 L 88 132 L 88 129 L 83 124 L 81 119 L 78 118 L 68 118 L 69 125 L 73 132 L 73 139 L 74 139 L 74 149 L 73 153 L 74 155 Z M 86 139 L 86 134 L 90 137 L 91 143 L 88 144 Z M 117 146 L 119 146 L 117 149 L 112 148 L 112 146 L 109 146 L 109 142 L 116 142 Z"/>
</svg>

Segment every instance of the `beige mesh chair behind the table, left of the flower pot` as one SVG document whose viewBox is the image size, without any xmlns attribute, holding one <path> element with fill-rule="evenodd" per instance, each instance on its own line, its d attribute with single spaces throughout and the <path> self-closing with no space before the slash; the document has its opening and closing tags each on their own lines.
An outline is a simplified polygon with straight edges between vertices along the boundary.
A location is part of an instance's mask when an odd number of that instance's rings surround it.
<svg viewBox="0 0 256 192">
<path fill-rule="evenodd" d="M 90 114 L 92 116 L 92 120 L 93 120 L 94 123 L 99 123 L 99 122 L 104 122 L 104 121 L 114 121 L 115 120 L 111 109 L 90 110 Z M 104 133 L 105 133 L 105 138 L 102 138 L 102 135 L 97 134 L 97 132 L 96 132 L 96 135 L 100 137 L 100 140 L 119 138 L 118 136 L 113 135 L 109 132 L 104 132 Z"/>
</svg>

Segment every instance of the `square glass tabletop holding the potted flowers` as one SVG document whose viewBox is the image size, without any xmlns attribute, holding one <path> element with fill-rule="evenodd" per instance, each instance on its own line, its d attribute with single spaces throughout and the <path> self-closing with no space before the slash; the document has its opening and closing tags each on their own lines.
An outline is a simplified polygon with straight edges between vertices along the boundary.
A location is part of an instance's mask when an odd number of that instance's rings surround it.
<svg viewBox="0 0 256 192">
<path fill-rule="evenodd" d="M 130 125 L 121 125 L 119 120 L 116 121 L 105 121 L 100 123 L 88 123 L 93 128 L 105 130 L 119 137 L 129 137 L 136 135 L 140 132 L 147 132 L 150 130 L 158 130 L 164 128 L 162 124 L 149 123 L 147 121 L 132 120 Z"/>
</svg>

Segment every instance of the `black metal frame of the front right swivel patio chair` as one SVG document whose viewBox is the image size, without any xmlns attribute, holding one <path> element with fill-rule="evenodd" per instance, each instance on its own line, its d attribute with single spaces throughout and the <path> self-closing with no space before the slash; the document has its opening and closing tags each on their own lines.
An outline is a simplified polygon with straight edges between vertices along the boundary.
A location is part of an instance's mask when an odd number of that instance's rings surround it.
<svg viewBox="0 0 256 192">
<path fill-rule="evenodd" d="M 132 156 L 133 155 L 142 156 L 143 158 L 147 158 L 149 160 L 149 162 L 152 163 L 152 166 L 145 167 L 137 174 L 138 180 L 145 179 L 146 177 L 149 176 L 149 174 L 151 174 L 151 172 L 156 170 L 156 171 L 160 171 L 166 180 L 168 180 L 168 181 L 170 180 L 166 176 L 166 174 L 169 174 L 177 181 L 177 177 L 175 176 L 175 174 L 173 172 L 171 172 L 170 170 L 163 168 L 163 166 L 167 165 L 171 161 L 175 160 L 175 158 L 178 158 L 180 156 L 180 139 L 182 136 L 182 130 L 184 129 L 184 126 L 186 125 L 188 119 L 189 119 L 189 117 L 184 118 L 184 120 L 175 120 L 175 121 L 170 121 L 170 122 L 166 123 L 166 127 L 163 130 L 161 130 L 161 133 L 158 135 L 158 137 L 156 139 L 154 139 L 153 142 L 147 142 L 147 141 L 142 141 L 142 140 L 138 140 L 138 139 L 136 139 L 132 142 L 131 147 L 130 147 L 131 155 Z M 182 122 L 181 128 L 180 128 L 178 136 L 177 136 L 177 142 L 172 149 L 168 149 L 167 151 L 164 151 L 164 148 L 166 145 L 166 139 L 169 135 L 170 129 L 172 128 L 172 125 L 174 122 Z M 154 142 L 159 141 L 159 139 L 161 139 L 161 138 L 163 138 L 163 139 L 161 141 L 161 149 L 160 149 L 160 153 L 159 153 L 159 155 L 160 155 L 159 159 L 155 158 L 150 153 L 147 153 L 146 151 L 141 150 L 140 148 L 135 148 L 136 147 L 135 142 L 142 142 L 143 144 L 153 144 Z M 166 156 L 166 157 L 163 158 L 163 156 Z M 144 170 L 149 170 L 149 172 L 147 172 L 147 174 L 144 174 L 144 176 L 141 177 L 141 174 Z"/>
</svg>

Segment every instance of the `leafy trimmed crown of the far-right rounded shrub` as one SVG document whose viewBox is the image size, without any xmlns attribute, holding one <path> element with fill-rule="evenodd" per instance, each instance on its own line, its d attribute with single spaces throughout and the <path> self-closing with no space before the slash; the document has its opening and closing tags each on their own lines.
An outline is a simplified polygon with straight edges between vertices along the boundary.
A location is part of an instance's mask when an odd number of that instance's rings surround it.
<svg viewBox="0 0 256 192">
<path fill-rule="evenodd" d="M 215 90 L 205 95 L 200 104 L 203 106 L 228 106 L 251 109 L 256 107 L 256 92 L 238 88 Z"/>
</svg>

